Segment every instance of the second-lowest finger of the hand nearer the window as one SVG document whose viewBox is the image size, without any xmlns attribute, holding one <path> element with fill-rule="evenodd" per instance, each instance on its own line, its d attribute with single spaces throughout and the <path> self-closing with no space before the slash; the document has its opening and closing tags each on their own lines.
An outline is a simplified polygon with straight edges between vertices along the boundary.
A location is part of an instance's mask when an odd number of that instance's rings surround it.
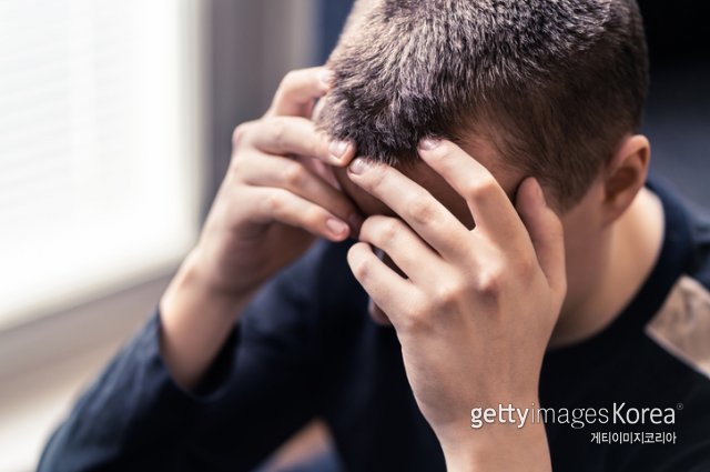
<svg viewBox="0 0 710 472">
<path fill-rule="evenodd" d="M 359 230 L 362 218 L 349 199 L 302 162 L 265 154 L 236 159 L 235 172 L 244 183 L 287 190 L 346 221 L 354 233 Z"/>
</svg>

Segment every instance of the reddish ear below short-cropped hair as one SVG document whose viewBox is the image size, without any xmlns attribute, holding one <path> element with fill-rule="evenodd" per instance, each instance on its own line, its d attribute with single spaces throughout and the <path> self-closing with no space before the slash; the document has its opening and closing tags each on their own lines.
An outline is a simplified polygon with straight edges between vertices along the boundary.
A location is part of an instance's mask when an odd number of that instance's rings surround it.
<svg viewBox="0 0 710 472">
<path fill-rule="evenodd" d="M 651 158 L 651 144 L 645 135 L 626 137 L 604 172 L 604 224 L 616 221 L 643 188 Z"/>
</svg>

